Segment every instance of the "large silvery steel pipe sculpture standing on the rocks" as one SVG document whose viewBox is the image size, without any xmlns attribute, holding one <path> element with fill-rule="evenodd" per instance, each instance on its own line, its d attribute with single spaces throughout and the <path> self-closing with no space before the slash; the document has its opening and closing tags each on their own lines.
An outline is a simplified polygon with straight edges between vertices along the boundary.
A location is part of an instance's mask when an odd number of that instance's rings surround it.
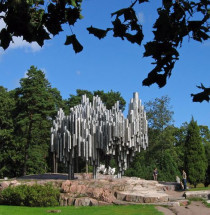
<svg viewBox="0 0 210 215">
<path fill-rule="evenodd" d="M 91 103 L 83 95 L 81 104 L 71 108 L 68 116 L 62 109 L 58 111 L 51 128 L 51 151 L 68 166 L 69 179 L 74 179 L 74 163 L 78 157 L 93 166 L 96 178 L 100 162 L 105 161 L 108 166 L 112 156 L 121 178 L 135 152 L 147 146 L 146 112 L 138 93 L 130 101 L 127 118 L 119 109 L 119 102 L 108 110 L 98 96 Z"/>
</svg>

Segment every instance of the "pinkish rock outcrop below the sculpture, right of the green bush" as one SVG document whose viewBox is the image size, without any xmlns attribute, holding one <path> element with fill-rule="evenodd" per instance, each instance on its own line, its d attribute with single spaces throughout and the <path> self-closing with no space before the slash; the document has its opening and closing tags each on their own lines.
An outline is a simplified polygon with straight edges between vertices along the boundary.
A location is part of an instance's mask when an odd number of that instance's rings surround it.
<svg viewBox="0 0 210 215">
<path fill-rule="evenodd" d="M 168 189 L 157 181 L 122 179 L 67 180 L 61 185 L 61 205 L 101 205 L 167 202 Z"/>
</svg>

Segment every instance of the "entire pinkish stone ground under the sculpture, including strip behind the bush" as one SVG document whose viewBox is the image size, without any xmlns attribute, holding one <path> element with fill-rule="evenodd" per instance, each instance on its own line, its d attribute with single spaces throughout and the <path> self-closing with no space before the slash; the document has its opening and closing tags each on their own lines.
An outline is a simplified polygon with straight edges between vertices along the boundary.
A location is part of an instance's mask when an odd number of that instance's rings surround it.
<svg viewBox="0 0 210 215">
<path fill-rule="evenodd" d="M 47 175 L 45 174 L 45 177 Z M 16 186 L 19 184 L 32 185 L 51 182 L 60 189 L 60 205 L 107 205 L 107 204 L 168 204 L 169 201 L 183 200 L 183 192 L 165 189 L 163 183 L 144 180 L 136 177 L 110 178 L 99 174 L 100 179 L 82 179 L 82 174 L 77 174 L 78 180 L 12 180 L 0 183 L 0 187 Z M 51 177 L 50 177 L 51 178 Z M 2 184 L 2 186 L 1 186 Z M 170 185 L 172 186 L 172 185 Z M 175 186 L 175 185 L 174 185 Z M 2 188 L 4 189 L 4 188 Z M 172 195 L 170 195 L 172 193 Z M 177 195 L 177 196 L 176 196 Z M 172 198 L 173 196 L 173 198 Z"/>
</svg>

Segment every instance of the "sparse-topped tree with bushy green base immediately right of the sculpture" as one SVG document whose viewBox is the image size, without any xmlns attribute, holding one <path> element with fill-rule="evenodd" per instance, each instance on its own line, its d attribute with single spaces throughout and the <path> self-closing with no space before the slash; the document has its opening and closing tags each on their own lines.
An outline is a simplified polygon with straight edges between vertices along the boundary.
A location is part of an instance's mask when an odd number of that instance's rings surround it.
<svg viewBox="0 0 210 215">
<path fill-rule="evenodd" d="M 178 153 L 175 146 L 177 128 L 173 123 L 170 98 L 163 96 L 145 103 L 149 123 L 149 146 L 135 156 L 128 176 L 152 179 L 153 169 L 158 169 L 158 180 L 175 181 L 180 175 Z"/>
</svg>

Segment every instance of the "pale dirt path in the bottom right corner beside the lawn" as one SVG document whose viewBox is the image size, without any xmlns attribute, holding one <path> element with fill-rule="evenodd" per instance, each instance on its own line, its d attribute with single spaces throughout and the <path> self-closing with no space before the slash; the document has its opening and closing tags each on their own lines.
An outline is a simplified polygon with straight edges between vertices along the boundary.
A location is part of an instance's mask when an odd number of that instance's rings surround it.
<svg viewBox="0 0 210 215">
<path fill-rule="evenodd" d="M 164 215 L 210 215 L 210 208 L 207 208 L 202 202 L 192 202 L 188 206 L 176 206 L 165 208 L 156 207 Z"/>
</svg>

